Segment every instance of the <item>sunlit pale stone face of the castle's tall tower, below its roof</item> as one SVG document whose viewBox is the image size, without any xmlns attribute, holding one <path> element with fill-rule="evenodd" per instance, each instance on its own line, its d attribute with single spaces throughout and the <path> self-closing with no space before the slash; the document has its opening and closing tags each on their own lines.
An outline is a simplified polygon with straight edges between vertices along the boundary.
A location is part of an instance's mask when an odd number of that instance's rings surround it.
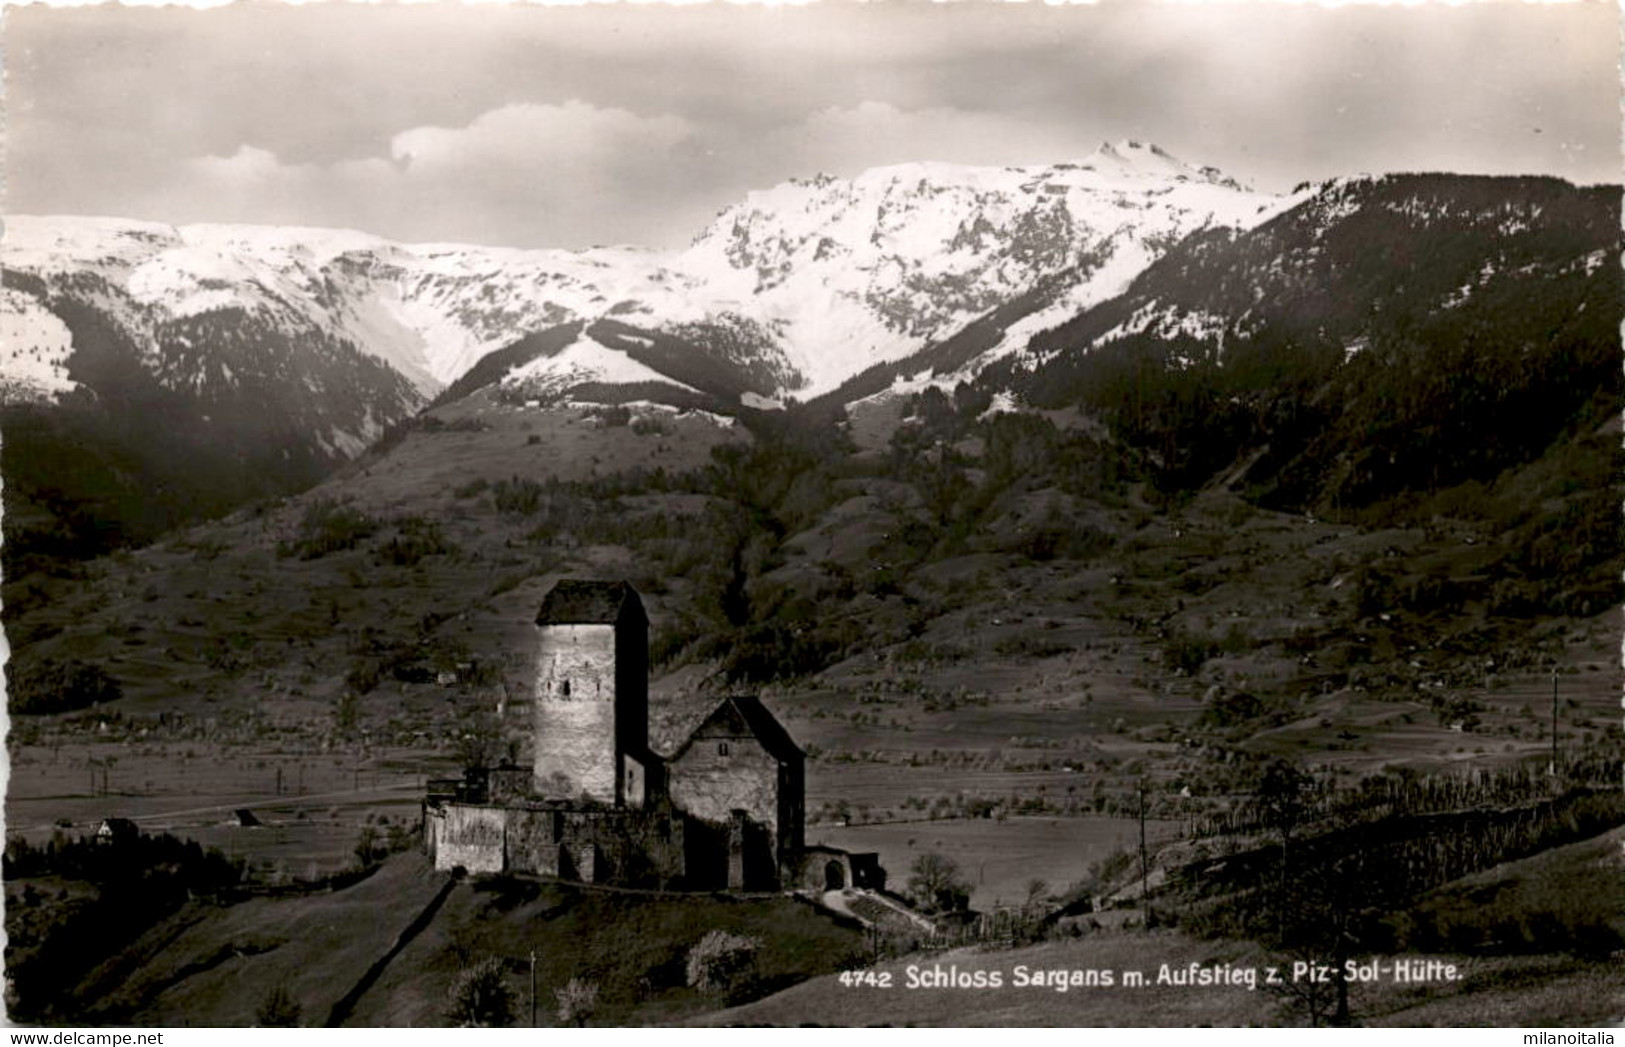
<svg viewBox="0 0 1625 1047">
<path fill-rule="evenodd" d="M 536 792 L 616 803 L 614 626 L 543 626 L 538 632 L 531 699 Z"/>
</svg>

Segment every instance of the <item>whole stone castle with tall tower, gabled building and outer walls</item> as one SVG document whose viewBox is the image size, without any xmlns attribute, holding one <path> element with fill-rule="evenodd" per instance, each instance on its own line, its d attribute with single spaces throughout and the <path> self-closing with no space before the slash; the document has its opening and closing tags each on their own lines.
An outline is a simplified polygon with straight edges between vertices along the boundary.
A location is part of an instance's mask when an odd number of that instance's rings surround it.
<svg viewBox="0 0 1625 1047">
<path fill-rule="evenodd" d="M 806 847 L 806 756 L 756 697 L 726 697 L 668 756 L 648 746 L 648 616 L 626 582 L 561 580 L 512 702 L 528 766 L 429 784 L 436 868 L 777 891 L 884 886 L 873 854 Z"/>
</svg>

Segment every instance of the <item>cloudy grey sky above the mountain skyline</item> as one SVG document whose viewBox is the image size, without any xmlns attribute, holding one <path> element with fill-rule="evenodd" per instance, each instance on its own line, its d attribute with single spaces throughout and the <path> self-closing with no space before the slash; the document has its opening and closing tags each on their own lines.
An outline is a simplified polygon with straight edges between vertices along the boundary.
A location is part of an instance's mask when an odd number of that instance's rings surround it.
<svg viewBox="0 0 1625 1047">
<path fill-rule="evenodd" d="M 5 10 L 6 213 L 678 247 L 752 189 L 1152 141 L 1618 182 L 1612 0 Z"/>
</svg>

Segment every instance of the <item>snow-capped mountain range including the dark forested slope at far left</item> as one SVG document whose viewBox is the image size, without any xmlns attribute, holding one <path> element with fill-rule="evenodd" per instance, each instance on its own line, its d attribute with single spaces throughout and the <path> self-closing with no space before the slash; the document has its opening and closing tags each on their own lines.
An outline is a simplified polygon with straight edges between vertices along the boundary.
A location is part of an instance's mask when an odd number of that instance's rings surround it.
<svg viewBox="0 0 1625 1047">
<path fill-rule="evenodd" d="M 1048 167 L 793 180 L 681 250 L 15 216 L 6 548 L 78 556 L 302 489 L 431 398 L 491 385 L 726 410 L 952 382 L 1190 234 L 1289 203 L 1120 143 Z"/>
</svg>

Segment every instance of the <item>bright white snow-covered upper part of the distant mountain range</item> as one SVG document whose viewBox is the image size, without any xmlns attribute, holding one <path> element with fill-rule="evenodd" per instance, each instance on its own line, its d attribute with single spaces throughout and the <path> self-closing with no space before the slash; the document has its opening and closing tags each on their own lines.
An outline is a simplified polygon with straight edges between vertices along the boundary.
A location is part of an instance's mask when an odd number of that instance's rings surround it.
<svg viewBox="0 0 1625 1047">
<path fill-rule="evenodd" d="M 1190 232 L 1246 228 L 1280 206 L 1155 146 L 1120 143 L 1050 167 L 918 163 L 791 180 L 722 211 L 678 252 L 13 218 L 0 255 L 13 276 L 0 366 L 13 397 L 72 387 L 72 337 L 50 317 L 78 301 L 124 328 L 150 364 L 166 353 L 164 325 L 232 314 L 291 338 L 320 332 L 432 395 L 526 335 L 585 324 L 564 351 L 515 364 L 505 380 L 538 392 L 692 389 L 694 361 L 682 359 L 692 356 L 713 377 L 733 372 L 723 392 L 804 398 L 1043 286 L 1042 307 L 988 348 L 996 358 L 1120 293 Z M 650 345 L 639 340 L 666 351 L 640 351 Z"/>
</svg>

